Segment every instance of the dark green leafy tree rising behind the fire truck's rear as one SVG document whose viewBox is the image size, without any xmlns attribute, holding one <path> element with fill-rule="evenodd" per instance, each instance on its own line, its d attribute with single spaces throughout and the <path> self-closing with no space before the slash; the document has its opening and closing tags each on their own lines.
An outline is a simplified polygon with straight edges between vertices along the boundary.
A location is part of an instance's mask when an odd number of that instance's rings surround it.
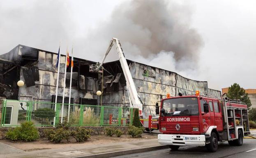
<svg viewBox="0 0 256 158">
<path fill-rule="evenodd" d="M 230 99 L 240 99 L 241 102 L 247 104 L 248 109 L 251 106 L 251 101 L 248 93 L 245 93 L 245 90 L 237 83 L 234 83 L 233 85 L 231 85 L 231 87 L 228 87 L 227 97 Z"/>
</svg>

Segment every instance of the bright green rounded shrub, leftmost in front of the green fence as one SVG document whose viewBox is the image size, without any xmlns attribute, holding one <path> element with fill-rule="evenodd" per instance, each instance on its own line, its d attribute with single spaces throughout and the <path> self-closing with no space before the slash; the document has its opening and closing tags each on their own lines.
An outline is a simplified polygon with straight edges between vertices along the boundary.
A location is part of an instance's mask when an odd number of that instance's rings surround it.
<svg viewBox="0 0 256 158">
<path fill-rule="evenodd" d="M 6 137 L 10 140 L 23 140 L 26 142 L 34 141 L 39 138 L 37 128 L 35 128 L 33 122 L 23 122 L 20 127 L 10 129 L 6 133 Z"/>
</svg>

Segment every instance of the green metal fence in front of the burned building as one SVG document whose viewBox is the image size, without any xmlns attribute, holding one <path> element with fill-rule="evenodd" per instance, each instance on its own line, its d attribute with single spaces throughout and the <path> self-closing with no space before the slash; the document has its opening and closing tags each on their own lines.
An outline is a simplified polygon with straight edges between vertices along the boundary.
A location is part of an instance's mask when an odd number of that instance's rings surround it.
<svg viewBox="0 0 256 158">
<path fill-rule="evenodd" d="M 112 106 L 3 100 L 1 126 L 20 126 L 25 121 L 35 126 L 127 126 L 132 124 L 133 108 Z"/>
</svg>

